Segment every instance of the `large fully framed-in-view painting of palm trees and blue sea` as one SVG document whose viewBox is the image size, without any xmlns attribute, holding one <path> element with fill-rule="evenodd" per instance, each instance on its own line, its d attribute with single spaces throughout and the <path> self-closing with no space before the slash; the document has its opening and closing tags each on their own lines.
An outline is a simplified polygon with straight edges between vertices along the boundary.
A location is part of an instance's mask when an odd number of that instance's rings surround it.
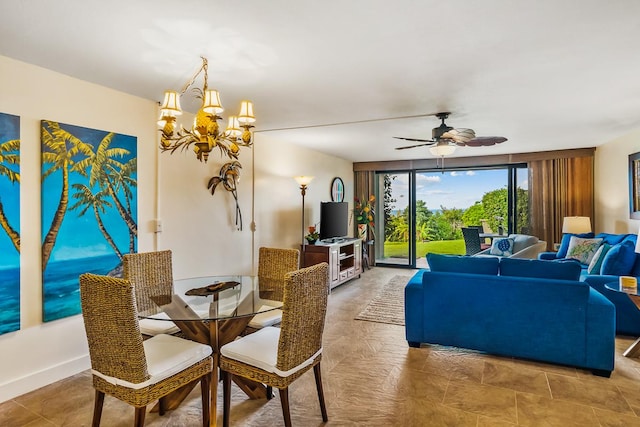
<svg viewBox="0 0 640 427">
<path fill-rule="evenodd" d="M 120 276 L 136 251 L 137 138 L 43 120 L 45 322 L 80 313 L 78 276 Z"/>
</svg>

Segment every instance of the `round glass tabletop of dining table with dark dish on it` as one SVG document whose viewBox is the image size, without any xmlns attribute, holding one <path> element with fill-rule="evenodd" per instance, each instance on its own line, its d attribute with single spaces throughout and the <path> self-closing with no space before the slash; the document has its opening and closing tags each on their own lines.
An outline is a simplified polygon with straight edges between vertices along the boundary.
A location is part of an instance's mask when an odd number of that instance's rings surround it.
<svg viewBox="0 0 640 427">
<path fill-rule="evenodd" d="M 175 280 L 172 295 L 155 295 L 155 307 L 138 313 L 157 320 L 202 321 L 254 316 L 282 302 L 263 299 L 256 276 L 205 276 Z"/>
</svg>

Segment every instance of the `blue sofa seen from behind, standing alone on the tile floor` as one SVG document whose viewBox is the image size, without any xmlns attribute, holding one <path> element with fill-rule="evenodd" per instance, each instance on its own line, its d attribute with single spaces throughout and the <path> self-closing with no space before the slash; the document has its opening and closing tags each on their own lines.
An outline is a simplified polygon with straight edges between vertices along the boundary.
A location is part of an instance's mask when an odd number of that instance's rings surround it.
<svg viewBox="0 0 640 427">
<path fill-rule="evenodd" d="M 406 339 L 609 376 L 615 309 L 576 263 L 429 254 L 405 287 Z"/>
</svg>

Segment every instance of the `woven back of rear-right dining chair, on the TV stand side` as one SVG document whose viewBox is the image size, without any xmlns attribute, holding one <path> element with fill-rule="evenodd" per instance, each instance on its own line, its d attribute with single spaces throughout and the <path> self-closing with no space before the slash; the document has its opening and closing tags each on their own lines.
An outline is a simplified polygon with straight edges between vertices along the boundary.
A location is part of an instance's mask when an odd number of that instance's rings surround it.
<svg viewBox="0 0 640 427">
<path fill-rule="evenodd" d="M 297 249 L 266 248 L 258 250 L 258 287 L 260 298 L 282 301 L 284 275 L 298 269 Z"/>
</svg>

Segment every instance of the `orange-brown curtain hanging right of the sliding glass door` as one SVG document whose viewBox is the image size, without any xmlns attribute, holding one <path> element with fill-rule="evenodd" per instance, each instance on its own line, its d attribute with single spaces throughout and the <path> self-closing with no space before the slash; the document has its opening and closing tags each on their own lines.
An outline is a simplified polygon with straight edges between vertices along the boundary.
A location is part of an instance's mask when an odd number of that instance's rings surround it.
<svg viewBox="0 0 640 427">
<path fill-rule="evenodd" d="M 551 250 L 562 238 L 565 216 L 587 216 L 594 221 L 593 156 L 529 162 L 531 234 Z"/>
</svg>

